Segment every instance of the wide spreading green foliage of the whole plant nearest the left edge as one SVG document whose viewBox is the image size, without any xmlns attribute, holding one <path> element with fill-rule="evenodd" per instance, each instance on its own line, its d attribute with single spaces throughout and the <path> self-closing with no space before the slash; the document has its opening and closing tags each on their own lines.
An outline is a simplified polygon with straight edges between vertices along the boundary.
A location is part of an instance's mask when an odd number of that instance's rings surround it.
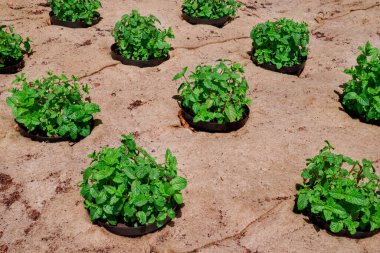
<svg viewBox="0 0 380 253">
<path fill-rule="evenodd" d="M 7 105 L 28 131 L 72 140 L 90 134 L 90 121 L 100 109 L 97 104 L 83 101 L 77 77 L 69 80 L 63 74 L 48 72 L 47 77 L 28 82 L 21 74 L 13 83 L 21 88 L 10 90 L 12 96 L 7 98 Z M 82 90 L 88 94 L 87 84 Z"/>
</svg>

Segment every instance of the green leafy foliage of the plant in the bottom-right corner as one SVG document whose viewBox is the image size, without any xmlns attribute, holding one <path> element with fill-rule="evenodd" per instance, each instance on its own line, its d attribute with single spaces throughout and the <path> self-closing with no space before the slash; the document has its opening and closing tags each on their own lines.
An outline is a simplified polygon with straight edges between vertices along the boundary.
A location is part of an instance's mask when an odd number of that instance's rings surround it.
<svg viewBox="0 0 380 253">
<path fill-rule="evenodd" d="M 318 155 L 307 160 L 297 209 L 311 211 L 329 224 L 333 233 L 379 229 L 380 178 L 372 163 L 333 154 L 334 148 L 326 143 Z"/>
</svg>

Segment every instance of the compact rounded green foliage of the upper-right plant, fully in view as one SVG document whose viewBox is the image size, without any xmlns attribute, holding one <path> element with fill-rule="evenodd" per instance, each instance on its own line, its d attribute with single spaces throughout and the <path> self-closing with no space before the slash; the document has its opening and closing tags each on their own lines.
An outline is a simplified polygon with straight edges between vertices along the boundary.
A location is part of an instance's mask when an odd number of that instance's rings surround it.
<svg viewBox="0 0 380 253">
<path fill-rule="evenodd" d="M 261 23 L 251 31 L 253 57 L 259 64 L 276 65 L 277 69 L 301 64 L 308 55 L 308 25 L 281 18 Z"/>
</svg>

